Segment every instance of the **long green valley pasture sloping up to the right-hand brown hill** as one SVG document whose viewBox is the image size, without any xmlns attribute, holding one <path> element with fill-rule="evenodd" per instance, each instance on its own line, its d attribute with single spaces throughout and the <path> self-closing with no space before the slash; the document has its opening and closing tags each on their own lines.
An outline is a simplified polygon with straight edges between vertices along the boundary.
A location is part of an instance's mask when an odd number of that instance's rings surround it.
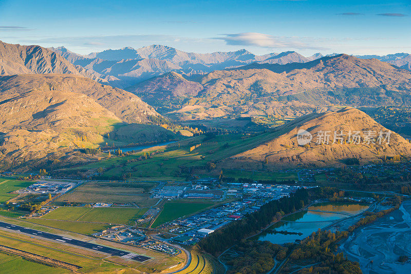
<svg viewBox="0 0 411 274">
<path fill-rule="evenodd" d="M 119 178 L 122 177 L 123 174 L 126 174 L 129 180 L 167 178 L 167 180 L 181 181 L 185 178 L 179 174 L 180 166 L 205 166 L 210 161 L 222 160 L 254 148 L 261 143 L 274 139 L 282 133 L 281 131 L 265 132 L 255 136 L 226 134 L 217 135 L 206 141 L 204 141 L 205 136 L 196 136 L 178 143 L 173 143 L 165 148 L 163 152 L 151 155 L 150 158 L 146 160 L 137 160 L 143 153 L 139 152 L 133 155 L 90 163 L 73 169 L 86 171 L 104 167 L 105 171 L 103 175 L 108 178 Z M 202 145 L 190 151 L 190 147 L 195 144 L 211 142 L 217 142 L 217 144 Z M 146 153 L 148 153 L 148 150 Z M 133 162 L 127 163 L 128 160 L 132 160 Z M 129 177 L 129 174 L 131 174 L 131 177 Z"/>
</svg>

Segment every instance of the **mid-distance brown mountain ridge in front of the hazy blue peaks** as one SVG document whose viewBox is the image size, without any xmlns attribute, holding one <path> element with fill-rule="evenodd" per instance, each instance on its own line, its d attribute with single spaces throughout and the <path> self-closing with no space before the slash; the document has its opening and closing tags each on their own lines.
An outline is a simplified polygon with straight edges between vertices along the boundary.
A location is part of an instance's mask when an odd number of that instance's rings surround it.
<svg viewBox="0 0 411 274">
<path fill-rule="evenodd" d="M 295 117 L 333 104 L 411 106 L 411 72 L 340 54 L 307 63 L 252 63 L 202 76 L 170 72 L 127 90 L 160 113 L 184 121 L 233 115 Z"/>
</svg>

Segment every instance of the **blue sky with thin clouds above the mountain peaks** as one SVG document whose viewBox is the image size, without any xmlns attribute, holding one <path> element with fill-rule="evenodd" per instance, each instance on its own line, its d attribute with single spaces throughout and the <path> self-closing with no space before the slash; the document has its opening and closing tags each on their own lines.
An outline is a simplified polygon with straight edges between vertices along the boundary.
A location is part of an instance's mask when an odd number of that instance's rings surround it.
<svg viewBox="0 0 411 274">
<path fill-rule="evenodd" d="M 411 53 L 410 30 L 410 0 L 0 0 L 3 42 L 82 54 L 152 44 L 200 53 Z"/>
</svg>

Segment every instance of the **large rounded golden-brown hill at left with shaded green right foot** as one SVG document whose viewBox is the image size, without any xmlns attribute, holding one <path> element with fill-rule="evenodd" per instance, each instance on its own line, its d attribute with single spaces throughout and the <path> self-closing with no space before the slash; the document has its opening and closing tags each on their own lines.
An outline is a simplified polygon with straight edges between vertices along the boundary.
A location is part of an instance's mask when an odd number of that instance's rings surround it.
<svg viewBox="0 0 411 274">
<path fill-rule="evenodd" d="M 138 96 L 81 76 L 0 76 L 0 96 L 2 169 L 82 163 L 90 159 L 79 148 L 166 141 L 175 135 L 146 125 L 159 114 Z"/>
</svg>

